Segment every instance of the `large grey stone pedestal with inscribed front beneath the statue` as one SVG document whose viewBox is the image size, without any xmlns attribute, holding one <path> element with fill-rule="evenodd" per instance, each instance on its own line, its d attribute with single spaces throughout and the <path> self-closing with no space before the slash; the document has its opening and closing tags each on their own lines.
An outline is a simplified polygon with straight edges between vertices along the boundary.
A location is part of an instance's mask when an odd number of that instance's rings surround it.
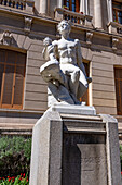
<svg viewBox="0 0 122 185">
<path fill-rule="evenodd" d="M 50 108 L 35 125 L 30 185 L 120 185 L 117 120 L 71 107 Z"/>
</svg>

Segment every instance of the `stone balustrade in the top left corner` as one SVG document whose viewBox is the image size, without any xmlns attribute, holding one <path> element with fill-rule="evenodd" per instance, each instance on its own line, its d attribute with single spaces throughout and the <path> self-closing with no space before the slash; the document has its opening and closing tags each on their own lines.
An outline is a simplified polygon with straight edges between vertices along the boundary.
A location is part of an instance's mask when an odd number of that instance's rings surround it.
<svg viewBox="0 0 122 185">
<path fill-rule="evenodd" d="M 5 5 L 9 8 L 27 10 L 29 12 L 33 11 L 32 0 L 0 0 L 0 5 Z"/>
</svg>

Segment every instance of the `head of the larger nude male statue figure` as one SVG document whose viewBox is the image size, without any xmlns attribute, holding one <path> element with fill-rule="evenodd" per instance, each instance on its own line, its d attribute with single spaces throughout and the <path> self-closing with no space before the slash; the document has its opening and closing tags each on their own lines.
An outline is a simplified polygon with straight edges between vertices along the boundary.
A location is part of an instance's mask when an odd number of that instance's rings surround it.
<svg viewBox="0 0 122 185">
<path fill-rule="evenodd" d="M 70 33 L 71 32 L 71 25 L 72 25 L 71 21 L 63 20 L 57 25 L 57 30 L 59 32 L 59 34 Z"/>
</svg>

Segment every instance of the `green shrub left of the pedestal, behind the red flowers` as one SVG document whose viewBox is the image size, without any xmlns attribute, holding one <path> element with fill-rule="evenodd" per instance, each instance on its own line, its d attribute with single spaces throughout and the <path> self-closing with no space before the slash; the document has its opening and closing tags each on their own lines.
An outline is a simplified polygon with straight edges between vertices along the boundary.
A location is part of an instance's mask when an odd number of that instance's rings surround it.
<svg viewBox="0 0 122 185">
<path fill-rule="evenodd" d="M 0 176 L 17 176 L 30 169 L 31 138 L 23 136 L 0 138 Z"/>
</svg>

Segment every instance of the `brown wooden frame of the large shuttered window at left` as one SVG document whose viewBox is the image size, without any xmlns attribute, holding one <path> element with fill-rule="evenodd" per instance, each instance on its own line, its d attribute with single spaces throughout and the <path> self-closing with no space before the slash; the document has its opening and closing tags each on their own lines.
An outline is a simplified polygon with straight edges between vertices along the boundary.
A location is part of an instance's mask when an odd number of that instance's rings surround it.
<svg viewBox="0 0 122 185">
<path fill-rule="evenodd" d="M 25 73 L 26 73 L 26 53 L 23 53 L 23 52 L 19 52 L 19 51 L 15 51 L 15 50 L 11 50 L 11 49 L 3 49 L 3 48 L 0 48 L 0 51 L 1 52 L 4 52 L 5 54 L 5 60 L 4 61 L 0 61 L 0 65 L 3 65 L 3 75 L 2 75 L 2 78 L 1 78 L 1 95 L 0 95 L 0 108 L 1 109 L 23 109 L 23 104 L 24 104 L 24 87 L 25 87 Z M 9 52 L 12 54 L 15 53 L 15 61 L 14 63 L 9 63 L 8 62 L 8 54 Z M 18 63 L 17 61 L 17 57 L 21 55 L 21 54 L 24 54 L 24 64 L 22 63 Z M 4 92 L 4 86 L 5 86 L 5 76 L 8 77 L 6 75 L 6 67 L 10 67 L 10 66 L 13 66 L 14 71 L 13 71 L 13 78 L 12 78 L 12 95 L 11 95 L 11 103 L 3 103 L 3 95 L 5 94 Z M 17 69 L 18 67 L 18 69 Z M 15 83 L 17 82 L 16 77 L 17 76 L 17 70 L 22 70 L 24 69 L 23 71 L 23 76 L 22 76 L 22 98 L 21 98 L 21 104 L 16 104 L 14 103 L 14 99 L 15 99 L 15 95 L 17 95 L 17 92 L 15 94 Z M 18 77 L 19 78 L 19 77 Z"/>
</svg>

